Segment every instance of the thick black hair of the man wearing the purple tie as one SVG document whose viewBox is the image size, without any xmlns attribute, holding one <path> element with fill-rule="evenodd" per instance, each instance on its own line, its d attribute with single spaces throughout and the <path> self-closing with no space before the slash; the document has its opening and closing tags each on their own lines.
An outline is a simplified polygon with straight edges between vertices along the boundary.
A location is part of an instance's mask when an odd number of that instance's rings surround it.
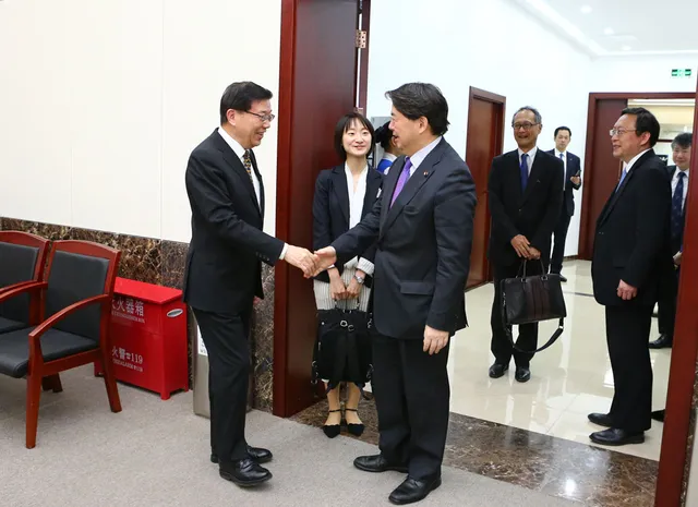
<svg viewBox="0 0 698 507">
<path fill-rule="evenodd" d="M 432 134 L 444 135 L 448 132 L 448 102 L 433 84 L 407 83 L 386 92 L 385 96 L 393 101 L 395 109 L 410 120 L 426 118 Z"/>
</svg>

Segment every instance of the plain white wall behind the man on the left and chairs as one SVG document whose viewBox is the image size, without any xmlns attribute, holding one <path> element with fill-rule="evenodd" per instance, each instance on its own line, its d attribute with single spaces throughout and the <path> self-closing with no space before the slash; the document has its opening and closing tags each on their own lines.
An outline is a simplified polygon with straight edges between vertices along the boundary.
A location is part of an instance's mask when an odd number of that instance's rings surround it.
<svg viewBox="0 0 698 507">
<path fill-rule="evenodd" d="M 189 241 L 186 158 L 229 83 L 278 97 L 280 3 L 0 2 L 0 216 Z M 276 138 L 256 150 L 267 231 Z"/>
</svg>

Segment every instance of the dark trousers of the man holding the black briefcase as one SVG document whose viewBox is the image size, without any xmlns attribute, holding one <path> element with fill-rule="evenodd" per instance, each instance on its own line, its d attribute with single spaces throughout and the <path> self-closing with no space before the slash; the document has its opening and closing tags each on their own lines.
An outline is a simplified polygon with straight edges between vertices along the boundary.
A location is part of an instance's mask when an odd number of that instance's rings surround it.
<svg viewBox="0 0 698 507">
<path fill-rule="evenodd" d="M 512 355 L 517 366 L 529 367 L 532 353 L 519 352 L 515 350 L 512 342 L 506 336 L 504 322 L 502 319 L 502 280 L 505 278 L 515 278 L 522 274 L 520 264 L 512 266 L 492 265 L 494 274 L 494 301 L 492 302 L 492 315 L 490 324 L 492 326 L 492 345 L 491 350 L 494 354 L 494 361 L 498 364 L 509 364 Z M 541 263 L 538 261 L 527 263 L 526 275 L 542 275 Z M 522 324 L 519 327 L 519 336 L 516 340 L 517 347 L 522 350 L 535 350 L 538 347 L 538 323 Z"/>
</svg>

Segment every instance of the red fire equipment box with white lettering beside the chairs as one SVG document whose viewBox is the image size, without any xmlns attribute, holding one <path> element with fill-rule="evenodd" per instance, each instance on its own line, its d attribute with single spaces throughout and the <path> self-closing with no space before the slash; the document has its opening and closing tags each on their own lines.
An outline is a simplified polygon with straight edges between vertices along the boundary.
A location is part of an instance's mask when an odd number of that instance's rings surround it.
<svg viewBox="0 0 698 507">
<path fill-rule="evenodd" d="M 189 390 L 181 290 L 117 278 L 109 331 L 117 381 L 159 393 L 164 400 Z M 95 375 L 101 375 L 97 363 Z"/>
</svg>

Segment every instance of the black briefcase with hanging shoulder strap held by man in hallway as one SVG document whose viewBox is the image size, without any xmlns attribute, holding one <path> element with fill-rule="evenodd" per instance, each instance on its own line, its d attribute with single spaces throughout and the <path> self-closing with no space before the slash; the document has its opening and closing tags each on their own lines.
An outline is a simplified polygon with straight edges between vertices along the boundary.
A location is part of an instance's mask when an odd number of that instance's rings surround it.
<svg viewBox="0 0 698 507">
<path fill-rule="evenodd" d="M 534 353 L 547 349 L 563 334 L 567 309 L 559 275 L 543 274 L 527 277 L 526 264 L 527 261 L 521 264 L 524 276 L 517 274 L 516 278 L 502 280 L 502 321 L 514 348 L 519 352 Z M 542 273 L 545 273 L 542 261 L 541 268 Z M 553 318 L 559 319 L 557 329 L 543 347 L 537 350 L 521 350 L 516 346 L 512 335 L 513 325 L 533 324 Z"/>
</svg>

